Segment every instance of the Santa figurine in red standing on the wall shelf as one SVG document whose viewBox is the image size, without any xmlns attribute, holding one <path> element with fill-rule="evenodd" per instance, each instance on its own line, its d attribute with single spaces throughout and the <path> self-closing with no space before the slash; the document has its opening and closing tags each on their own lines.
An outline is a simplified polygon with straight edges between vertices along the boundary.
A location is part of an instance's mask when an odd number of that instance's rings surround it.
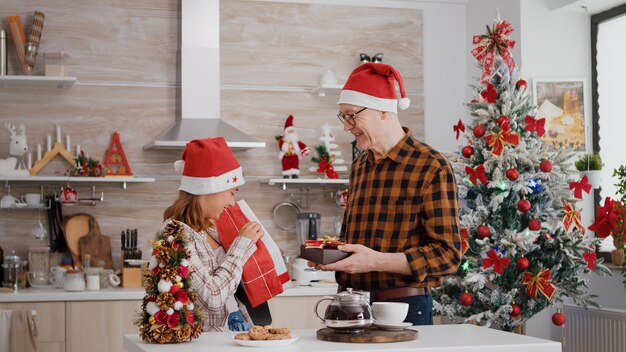
<svg viewBox="0 0 626 352">
<path fill-rule="evenodd" d="M 307 156 L 311 150 L 298 139 L 296 128 L 293 127 L 293 115 L 285 121 L 282 137 L 278 137 L 278 157 L 282 161 L 283 178 L 298 178 L 300 174 L 300 157 Z"/>
</svg>

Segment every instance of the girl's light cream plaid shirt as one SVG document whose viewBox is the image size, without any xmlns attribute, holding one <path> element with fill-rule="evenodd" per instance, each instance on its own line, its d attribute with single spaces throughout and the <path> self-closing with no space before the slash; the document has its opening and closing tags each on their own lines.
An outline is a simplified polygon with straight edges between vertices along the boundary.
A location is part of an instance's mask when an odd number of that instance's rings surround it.
<svg viewBox="0 0 626 352">
<path fill-rule="evenodd" d="M 171 221 L 175 220 L 167 220 L 163 226 Z M 226 300 L 235 295 L 241 281 L 243 265 L 256 250 L 256 244 L 248 238 L 238 236 L 218 265 L 215 252 L 206 241 L 206 236 L 209 235 L 219 243 L 217 230 L 210 227 L 208 232 L 196 232 L 182 224 L 189 234 L 189 263 L 194 269 L 191 281 L 198 297 L 194 303 L 204 312 L 204 331 L 228 331 Z M 244 319 L 252 322 L 245 306 L 238 299 L 237 304 Z"/>
</svg>

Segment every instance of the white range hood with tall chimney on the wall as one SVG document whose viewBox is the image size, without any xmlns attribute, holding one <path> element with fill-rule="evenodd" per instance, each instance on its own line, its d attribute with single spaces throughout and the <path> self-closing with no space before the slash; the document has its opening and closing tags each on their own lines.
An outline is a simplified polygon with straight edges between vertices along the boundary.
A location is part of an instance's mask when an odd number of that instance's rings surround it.
<svg viewBox="0 0 626 352">
<path fill-rule="evenodd" d="M 208 137 L 224 137 L 233 150 L 265 147 L 220 119 L 219 17 L 219 0 L 182 0 L 181 119 L 144 149 L 181 149 Z"/>
</svg>

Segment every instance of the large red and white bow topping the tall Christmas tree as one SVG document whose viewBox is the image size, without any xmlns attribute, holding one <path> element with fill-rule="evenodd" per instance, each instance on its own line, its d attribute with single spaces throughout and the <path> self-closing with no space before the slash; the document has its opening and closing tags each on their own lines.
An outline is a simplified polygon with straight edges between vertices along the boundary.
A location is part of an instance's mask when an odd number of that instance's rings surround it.
<svg viewBox="0 0 626 352">
<path fill-rule="evenodd" d="M 509 67 L 509 72 L 515 67 L 515 60 L 511 56 L 510 49 L 515 46 L 515 41 L 509 39 L 509 34 L 513 32 L 513 27 L 507 21 L 496 22 L 492 28 L 487 26 L 487 34 L 475 35 L 472 44 L 476 45 L 472 49 L 472 55 L 482 63 L 483 72 L 480 76 L 481 83 L 486 83 L 491 78 L 493 65 L 495 63 L 496 51 L 502 57 L 502 61 Z"/>
</svg>

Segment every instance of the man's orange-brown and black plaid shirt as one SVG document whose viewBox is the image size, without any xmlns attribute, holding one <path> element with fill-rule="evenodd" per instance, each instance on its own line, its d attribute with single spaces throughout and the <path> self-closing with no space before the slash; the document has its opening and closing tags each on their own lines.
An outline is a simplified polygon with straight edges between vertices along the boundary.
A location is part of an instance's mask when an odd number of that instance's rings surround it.
<svg viewBox="0 0 626 352">
<path fill-rule="evenodd" d="M 461 260 L 454 173 L 439 152 L 406 136 L 387 155 L 371 151 L 352 164 L 342 237 L 385 253 L 404 252 L 412 276 L 337 273 L 342 287 L 377 290 L 434 287 Z"/>
</svg>

